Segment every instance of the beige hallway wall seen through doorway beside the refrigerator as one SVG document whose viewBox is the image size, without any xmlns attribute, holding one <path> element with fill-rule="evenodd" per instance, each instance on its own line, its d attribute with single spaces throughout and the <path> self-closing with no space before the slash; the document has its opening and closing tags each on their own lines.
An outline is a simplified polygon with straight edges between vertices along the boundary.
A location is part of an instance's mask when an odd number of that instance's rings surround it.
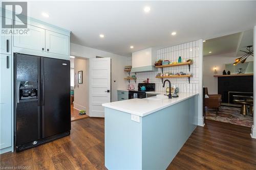
<svg viewBox="0 0 256 170">
<path fill-rule="evenodd" d="M 74 59 L 74 71 L 75 71 L 75 89 L 74 89 L 74 108 L 77 110 L 88 110 L 86 109 L 89 104 L 88 98 L 88 72 L 89 69 L 87 67 L 89 63 L 88 59 Z M 78 84 L 77 82 L 77 74 L 78 71 L 82 71 L 82 84 Z"/>
</svg>

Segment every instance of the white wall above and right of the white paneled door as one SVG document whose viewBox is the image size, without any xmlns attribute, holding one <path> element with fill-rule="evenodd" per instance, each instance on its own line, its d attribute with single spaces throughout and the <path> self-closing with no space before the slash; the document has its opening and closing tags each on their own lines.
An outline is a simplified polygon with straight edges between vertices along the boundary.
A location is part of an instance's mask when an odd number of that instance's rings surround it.
<svg viewBox="0 0 256 170">
<path fill-rule="evenodd" d="M 84 58 L 110 57 L 111 58 L 111 101 L 117 101 L 117 90 L 126 89 L 126 81 L 124 78 L 127 76 L 123 70 L 124 66 L 128 63 L 128 58 L 117 54 L 104 52 L 91 47 L 82 46 L 78 44 L 70 44 L 70 55 Z M 88 89 L 89 90 L 89 89 Z M 89 93 L 88 93 L 89 94 Z"/>
</svg>

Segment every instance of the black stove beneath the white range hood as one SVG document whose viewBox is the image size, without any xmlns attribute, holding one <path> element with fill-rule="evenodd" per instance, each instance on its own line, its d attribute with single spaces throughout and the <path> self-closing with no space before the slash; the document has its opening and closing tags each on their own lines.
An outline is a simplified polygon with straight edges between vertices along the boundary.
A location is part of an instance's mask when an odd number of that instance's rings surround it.
<svg viewBox="0 0 256 170">
<path fill-rule="evenodd" d="M 144 86 L 145 90 L 141 90 L 141 87 Z M 146 98 L 146 91 L 155 91 L 156 84 L 155 83 L 139 83 L 138 90 L 129 90 L 129 99 Z"/>
</svg>

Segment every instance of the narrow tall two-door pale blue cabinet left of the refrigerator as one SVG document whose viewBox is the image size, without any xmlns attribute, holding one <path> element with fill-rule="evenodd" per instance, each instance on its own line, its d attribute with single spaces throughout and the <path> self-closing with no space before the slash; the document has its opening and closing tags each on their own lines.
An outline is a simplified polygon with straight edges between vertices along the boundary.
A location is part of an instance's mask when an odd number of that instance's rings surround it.
<svg viewBox="0 0 256 170">
<path fill-rule="evenodd" d="M 0 25 L 2 28 L 2 20 Z M 11 19 L 5 18 L 11 23 Z M 12 56 L 11 35 L 0 35 L 0 154 L 12 149 Z"/>
</svg>

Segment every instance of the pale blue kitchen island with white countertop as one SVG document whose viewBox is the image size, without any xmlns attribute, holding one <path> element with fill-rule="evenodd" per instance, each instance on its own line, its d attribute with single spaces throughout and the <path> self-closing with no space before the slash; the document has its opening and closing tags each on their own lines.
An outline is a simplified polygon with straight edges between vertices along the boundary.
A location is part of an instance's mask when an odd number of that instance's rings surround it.
<svg viewBox="0 0 256 170">
<path fill-rule="evenodd" d="M 105 166 L 166 169 L 197 126 L 197 93 L 105 103 Z"/>
</svg>

